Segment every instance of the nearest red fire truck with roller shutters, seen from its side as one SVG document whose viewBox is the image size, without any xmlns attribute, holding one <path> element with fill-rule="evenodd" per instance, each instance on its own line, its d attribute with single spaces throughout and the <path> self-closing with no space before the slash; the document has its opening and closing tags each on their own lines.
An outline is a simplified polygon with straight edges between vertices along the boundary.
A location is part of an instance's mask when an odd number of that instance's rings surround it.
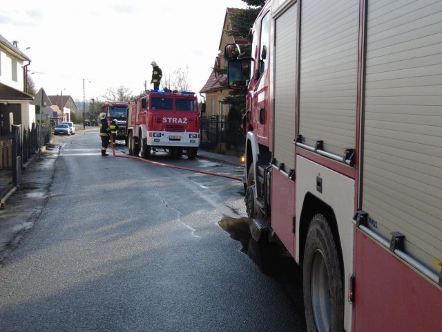
<svg viewBox="0 0 442 332">
<path fill-rule="evenodd" d="M 441 331 L 442 1 L 271 0 L 250 37 L 224 52 L 249 224 L 302 266 L 308 330 Z"/>
</svg>

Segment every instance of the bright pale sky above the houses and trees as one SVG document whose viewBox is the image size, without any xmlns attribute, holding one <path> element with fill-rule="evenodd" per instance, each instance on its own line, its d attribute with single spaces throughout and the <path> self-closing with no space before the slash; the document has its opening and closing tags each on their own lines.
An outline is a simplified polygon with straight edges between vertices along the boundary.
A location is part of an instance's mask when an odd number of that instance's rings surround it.
<svg viewBox="0 0 442 332">
<path fill-rule="evenodd" d="M 152 61 L 162 68 L 163 79 L 188 68 L 191 91 L 198 94 L 218 55 L 228 7 L 246 5 L 240 0 L 10 0 L 0 7 L 0 35 L 18 42 L 31 59 L 36 90 L 48 95 L 100 100 L 119 86 L 137 95 L 144 81 L 153 89 Z"/>
</svg>

